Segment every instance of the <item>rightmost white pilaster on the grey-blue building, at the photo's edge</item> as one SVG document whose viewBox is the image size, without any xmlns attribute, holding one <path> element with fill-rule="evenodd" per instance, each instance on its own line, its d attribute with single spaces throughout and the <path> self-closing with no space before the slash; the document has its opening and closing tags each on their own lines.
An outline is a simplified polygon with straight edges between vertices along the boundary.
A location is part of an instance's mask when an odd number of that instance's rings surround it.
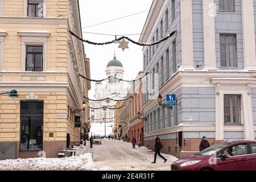
<svg viewBox="0 0 256 182">
<path fill-rule="evenodd" d="M 245 69 L 256 69 L 253 0 L 242 1 L 243 61 Z"/>
</svg>

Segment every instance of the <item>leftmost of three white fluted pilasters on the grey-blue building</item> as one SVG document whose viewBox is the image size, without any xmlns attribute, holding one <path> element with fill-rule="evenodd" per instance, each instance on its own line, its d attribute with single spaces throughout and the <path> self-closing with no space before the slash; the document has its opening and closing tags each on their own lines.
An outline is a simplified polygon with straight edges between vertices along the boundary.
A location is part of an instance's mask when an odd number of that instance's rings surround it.
<svg viewBox="0 0 256 182">
<path fill-rule="evenodd" d="M 181 1 L 182 68 L 194 69 L 192 1 Z"/>
</svg>

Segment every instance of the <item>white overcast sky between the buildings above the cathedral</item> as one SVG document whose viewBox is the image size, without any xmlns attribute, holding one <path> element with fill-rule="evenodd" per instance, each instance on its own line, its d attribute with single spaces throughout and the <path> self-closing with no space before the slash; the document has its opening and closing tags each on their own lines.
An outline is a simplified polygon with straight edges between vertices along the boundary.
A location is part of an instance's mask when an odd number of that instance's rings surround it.
<svg viewBox="0 0 256 182">
<path fill-rule="evenodd" d="M 100 34 L 123 35 L 140 34 L 147 18 L 147 12 L 114 20 L 93 27 L 84 28 L 93 24 L 105 22 L 122 16 L 149 10 L 152 0 L 80 0 L 80 14 L 82 31 Z M 129 38 L 138 41 L 140 35 L 129 35 Z M 106 42 L 114 39 L 114 36 L 83 33 L 83 38 L 93 42 Z M 106 65 L 113 59 L 114 51 L 117 60 L 121 61 L 125 69 L 125 79 L 135 78 L 142 71 L 142 47 L 129 43 L 129 49 L 122 51 L 119 44 L 106 46 L 94 46 L 85 43 L 85 53 L 90 59 L 91 78 L 105 78 Z M 89 91 L 89 96 L 94 96 L 94 85 Z"/>
</svg>

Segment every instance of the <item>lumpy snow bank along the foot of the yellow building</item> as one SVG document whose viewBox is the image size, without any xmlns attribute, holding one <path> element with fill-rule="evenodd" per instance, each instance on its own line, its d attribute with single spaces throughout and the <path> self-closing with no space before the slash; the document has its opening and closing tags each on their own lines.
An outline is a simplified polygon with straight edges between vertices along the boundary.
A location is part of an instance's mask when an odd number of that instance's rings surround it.
<svg viewBox="0 0 256 182">
<path fill-rule="evenodd" d="M 85 153 L 79 150 L 78 153 Z M 92 154 L 77 154 L 69 158 L 30 158 L 0 161 L 0 171 L 90 171 L 94 169 Z"/>
</svg>

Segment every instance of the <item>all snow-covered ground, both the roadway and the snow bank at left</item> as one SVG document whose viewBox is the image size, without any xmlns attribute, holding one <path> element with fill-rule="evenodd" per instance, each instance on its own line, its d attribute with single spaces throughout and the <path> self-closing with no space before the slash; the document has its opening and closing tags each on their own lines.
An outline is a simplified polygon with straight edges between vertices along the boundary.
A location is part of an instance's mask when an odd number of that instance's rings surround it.
<svg viewBox="0 0 256 182">
<path fill-rule="evenodd" d="M 177 160 L 175 156 L 163 154 L 167 159 L 154 160 L 154 152 L 146 147 L 136 146 L 133 149 L 131 143 L 121 140 L 103 139 L 102 144 L 94 144 L 89 148 L 89 142 L 76 156 L 69 158 L 33 158 L 0 161 L 0 170 L 26 170 L 26 171 L 89 171 L 89 170 L 170 170 L 172 162 Z"/>
</svg>

